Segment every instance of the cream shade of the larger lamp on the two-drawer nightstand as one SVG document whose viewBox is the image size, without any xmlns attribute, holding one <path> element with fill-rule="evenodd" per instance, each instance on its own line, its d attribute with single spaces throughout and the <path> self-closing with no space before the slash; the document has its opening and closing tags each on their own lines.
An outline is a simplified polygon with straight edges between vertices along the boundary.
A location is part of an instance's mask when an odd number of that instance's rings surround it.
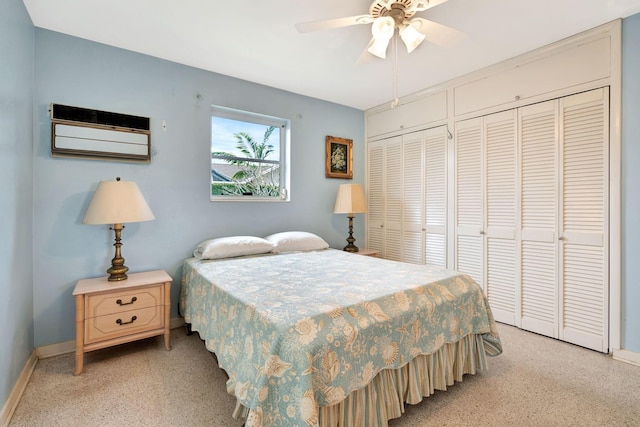
<svg viewBox="0 0 640 427">
<path fill-rule="evenodd" d="M 101 181 L 82 220 L 83 224 L 124 224 L 155 219 L 133 181 Z"/>
</svg>

